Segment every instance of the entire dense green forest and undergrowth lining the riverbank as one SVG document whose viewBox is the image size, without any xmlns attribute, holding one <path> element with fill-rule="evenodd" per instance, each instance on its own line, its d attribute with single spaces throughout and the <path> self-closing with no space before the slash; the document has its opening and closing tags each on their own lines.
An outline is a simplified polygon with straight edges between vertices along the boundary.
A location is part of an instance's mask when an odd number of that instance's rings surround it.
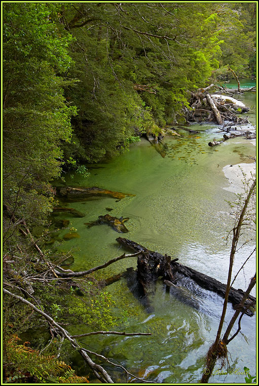
<svg viewBox="0 0 259 386">
<path fill-rule="evenodd" d="M 91 365 L 89 356 L 57 330 L 75 320 L 109 329 L 113 300 L 53 269 L 67 256 L 44 244 L 52 181 L 68 171 L 87 179 L 88 163 L 184 123 L 189 92 L 232 79 L 229 67 L 255 77 L 256 4 L 4 2 L 2 11 L 4 381 L 89 382 L 70 367 L 72 349 Z"/>
</svg>

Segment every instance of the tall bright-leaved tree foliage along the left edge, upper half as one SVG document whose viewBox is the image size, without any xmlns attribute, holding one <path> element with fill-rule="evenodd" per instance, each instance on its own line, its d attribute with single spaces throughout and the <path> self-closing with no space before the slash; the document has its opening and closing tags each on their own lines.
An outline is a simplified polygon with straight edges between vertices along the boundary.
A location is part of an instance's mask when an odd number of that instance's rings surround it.
<svg viewBox="0 0 259 386">
<path fill-rule="evenodd" d="M 51 211 L 49 181 L 60 175 L 60 141 L 71 138 L 76 107 L 60 76 L 71 65 L 72 36 L 52 21 L 54 4 L 6 3 L 3 8 L 4 202 L 28 224 Z"/>
</svg>

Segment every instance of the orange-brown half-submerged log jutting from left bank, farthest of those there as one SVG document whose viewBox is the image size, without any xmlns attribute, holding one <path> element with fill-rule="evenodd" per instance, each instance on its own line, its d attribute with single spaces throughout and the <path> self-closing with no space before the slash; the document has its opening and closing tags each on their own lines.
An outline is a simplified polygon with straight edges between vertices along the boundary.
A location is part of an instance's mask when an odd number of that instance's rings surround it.
<svg viewBox="0 0 259 386">
<path fill-rule="evenodd" d="M 120 191 L 113 191 L 102 189 L 96 186 L 93 187 L 82 187 L 82 186 L 65 186 L 61 187 L 59 194 L 66 198 L 78 199 L 91 199 L 91 197 L 111 197 L 113 199 L 124 199 L 126 196 L 133 197 L 129 193 L 122 193 Z"/>
</svg>

